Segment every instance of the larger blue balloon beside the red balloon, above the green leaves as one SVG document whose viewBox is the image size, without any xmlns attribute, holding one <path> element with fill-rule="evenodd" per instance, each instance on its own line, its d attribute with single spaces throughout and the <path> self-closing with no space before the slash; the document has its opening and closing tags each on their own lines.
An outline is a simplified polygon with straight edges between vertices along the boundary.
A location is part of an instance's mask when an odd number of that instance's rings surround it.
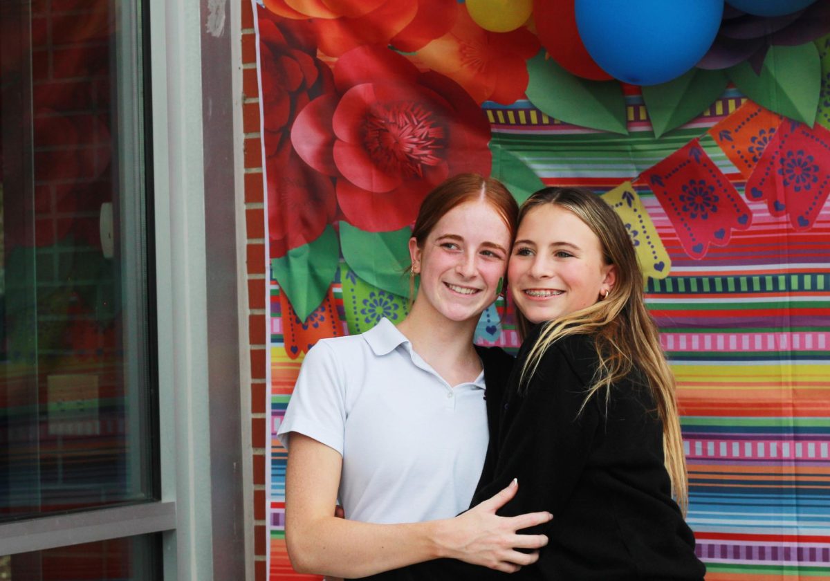
<svg viewBox="0 0 830 581">
<path fill-rule="evenodd" d="M 724 0 L 576 0 L 579 37 L 609 75 L 632 85 L 671 81 L 715 41 Z"/>
</svg>

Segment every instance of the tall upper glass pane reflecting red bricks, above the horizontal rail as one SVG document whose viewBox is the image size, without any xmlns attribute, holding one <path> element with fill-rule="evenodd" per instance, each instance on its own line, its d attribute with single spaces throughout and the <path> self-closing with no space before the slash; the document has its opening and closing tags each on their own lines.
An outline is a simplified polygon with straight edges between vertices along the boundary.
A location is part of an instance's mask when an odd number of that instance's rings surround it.
<svg viewBox="0 0 830 581">
<path fill-rule="evenodd" d="M 0 2 L 0 520 L 154 498 L 140 2 Z"/>
</svg>

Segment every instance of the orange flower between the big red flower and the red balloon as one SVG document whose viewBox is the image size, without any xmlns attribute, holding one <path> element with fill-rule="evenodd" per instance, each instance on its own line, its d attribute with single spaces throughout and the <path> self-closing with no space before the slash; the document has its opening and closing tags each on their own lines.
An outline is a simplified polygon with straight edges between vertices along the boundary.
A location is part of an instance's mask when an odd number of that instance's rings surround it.
<svg viewBox="0 0 830 581">
<path fill-rule="evenodd" d="M 512 32 L 484 30 L 462 6 L 452 30 L 424 46 L 417 59 L 456 81 L 478 103 L 493 100 L 510 105 L 525 96 L 525 61 L 539 52 L 539 46 L 525 27 Z"/>
</svg>

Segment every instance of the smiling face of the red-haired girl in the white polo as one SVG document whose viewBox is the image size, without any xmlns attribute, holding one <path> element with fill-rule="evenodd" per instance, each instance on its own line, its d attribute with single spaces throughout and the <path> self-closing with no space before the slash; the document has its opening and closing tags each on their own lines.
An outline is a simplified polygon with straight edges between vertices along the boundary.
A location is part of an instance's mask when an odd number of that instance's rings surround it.
<svg viewBox="0 0 830 581">
<path fill-rule="evenodd" d="M 465 202 L 437 222 L 422 247 L 409 241 L 421 281 L 413 312 L 478 320 L 496 300 L 510 252 L 510 231 L 490 203 Z"/>
</svg>

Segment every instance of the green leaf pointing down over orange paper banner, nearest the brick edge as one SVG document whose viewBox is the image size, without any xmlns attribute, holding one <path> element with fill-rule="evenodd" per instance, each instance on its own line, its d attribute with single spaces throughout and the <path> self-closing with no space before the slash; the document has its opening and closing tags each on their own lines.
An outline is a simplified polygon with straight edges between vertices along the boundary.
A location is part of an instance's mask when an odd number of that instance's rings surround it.
<svg viewBox="0 0 830 581">
<path fill-rule="evenodd" d="M 286 256 L 271 260 L 271 273 L 280 283 L 300 320 L 305 321 L 320 306 L 340 261 L 337 234 L 326 226 L 320 237 Z"/>
</svg>

